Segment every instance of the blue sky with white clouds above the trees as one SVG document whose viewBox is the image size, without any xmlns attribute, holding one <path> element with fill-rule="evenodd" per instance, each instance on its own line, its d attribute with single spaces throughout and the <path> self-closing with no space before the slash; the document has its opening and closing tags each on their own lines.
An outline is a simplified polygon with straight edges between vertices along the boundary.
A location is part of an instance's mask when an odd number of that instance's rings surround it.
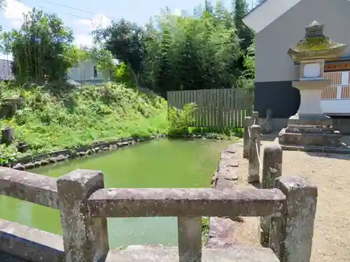
<svg viewBox="0 0 350 262">
<path fill-rule="evenodd" d="M 216 0 L 211 0 L 215 3 Z M 253 0 L 248 0 L 250 3 Z M 67 27 L 73 29 L 75 44 L 92 45 L 90 32 L 94 27 L 108 27 L 111 20 L 124 17 L 126 20 L 146 24 L 149 18 L 158 15 L 161 8 L 168 6 L 174 14 L 181 11 L 192 12 L 204 0 L 6 0 L 6 7 L 0 13 L 3 31 L 18 29 L 22 24 L 23 13 L 31 8 L 57 13 Z M 230 0 L 224 0 L 230 5 Z"/>
</svg>

